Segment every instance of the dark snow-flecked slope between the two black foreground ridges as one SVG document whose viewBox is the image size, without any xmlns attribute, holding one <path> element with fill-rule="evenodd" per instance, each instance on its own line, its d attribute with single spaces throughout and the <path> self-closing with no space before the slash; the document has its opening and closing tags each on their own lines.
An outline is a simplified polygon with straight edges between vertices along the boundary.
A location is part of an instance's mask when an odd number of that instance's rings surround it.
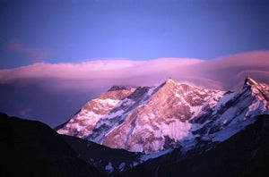
<svg viewBox="0 0 269 177">
<path fill-rule="evenodd" d="M 117 175 L 141 164 L 140 153 L 113 149 L 71 136 L 61 135 L 83 161 L 95 166 L 104 175 Z"/>
</svg>

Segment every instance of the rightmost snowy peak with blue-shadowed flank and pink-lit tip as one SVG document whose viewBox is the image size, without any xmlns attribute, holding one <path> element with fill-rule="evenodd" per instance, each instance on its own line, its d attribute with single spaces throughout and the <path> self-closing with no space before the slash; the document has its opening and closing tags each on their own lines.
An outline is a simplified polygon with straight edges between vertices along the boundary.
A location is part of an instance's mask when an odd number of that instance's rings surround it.
<svg viewBox="0 0 269 177">
<path fill-rule="evenodd" d="M 191 134 L 196 138 L 221 142 L 269 114 L 269 87 L 247 77 L 243 89 L 225 94 L 207 114 L 191 120 Z"/>
</svg>

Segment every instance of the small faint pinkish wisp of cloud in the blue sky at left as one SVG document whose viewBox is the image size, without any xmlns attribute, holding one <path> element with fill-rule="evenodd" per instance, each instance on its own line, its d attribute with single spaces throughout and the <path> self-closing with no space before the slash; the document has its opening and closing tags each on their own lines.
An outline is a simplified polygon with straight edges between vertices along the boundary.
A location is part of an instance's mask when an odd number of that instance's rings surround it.
<svg viewBox="0 0 269 177">
<path fill-rule="evenodd" d="M 6 46 L 5 49 L 7 52 L 19 52 L 24 55 L 25 58 L 31 62 L 44 62 L 49 55 L 52 54 L 51 50 L 40 50 L 34 47 L 23 46 L 22 43 L 17 40 L 11 40 Z"/>
</svg>

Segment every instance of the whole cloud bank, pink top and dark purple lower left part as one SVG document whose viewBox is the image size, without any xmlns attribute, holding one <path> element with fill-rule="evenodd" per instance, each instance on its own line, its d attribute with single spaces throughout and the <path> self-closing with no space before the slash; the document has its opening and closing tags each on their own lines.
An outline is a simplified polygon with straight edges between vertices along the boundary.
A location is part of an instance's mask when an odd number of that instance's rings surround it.
<svg viewBox="0 0 269 177">
<path fill-rule="evenodd" d="M 39 119 L 54 127 L 113 85 L 152 86 L 172 78 L 207 89 L 235 90 L 242 87 L 248 74 L 269 84 L 269 51 L 210 61 L 161 58 L 35 63 L 0 70 L 0 111 Z"/>
</svg>

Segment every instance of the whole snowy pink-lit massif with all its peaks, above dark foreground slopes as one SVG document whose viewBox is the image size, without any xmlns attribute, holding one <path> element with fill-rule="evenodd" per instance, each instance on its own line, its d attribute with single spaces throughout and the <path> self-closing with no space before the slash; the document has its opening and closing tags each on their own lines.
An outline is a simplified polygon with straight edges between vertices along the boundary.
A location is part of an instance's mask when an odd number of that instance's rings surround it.
<svg viewBox="0 0 269 177">
<path fill-rule="evenodd" d="M 269 86 L 247 77 L 236 92 L 166 80 L 158 87 L 112 87 L 56 130 L 128 151 L 152 154 L 213 147 L 269 114 Z"/>
</svg>

